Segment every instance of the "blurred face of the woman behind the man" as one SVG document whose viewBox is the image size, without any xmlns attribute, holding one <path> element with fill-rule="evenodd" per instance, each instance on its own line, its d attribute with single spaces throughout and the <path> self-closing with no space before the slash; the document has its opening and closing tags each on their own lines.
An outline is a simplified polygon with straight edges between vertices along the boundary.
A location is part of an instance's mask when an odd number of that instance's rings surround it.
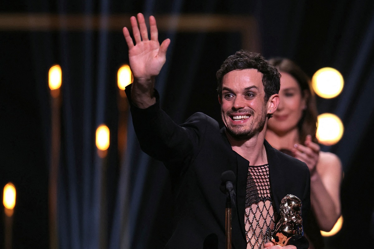
<svg viewBox="0 0 374 249">
<path fill-rule="evenodd" d="M 279 105 L 268 128 L 276 134 L 285 134 L 294 128 L 306 109 L 306 94 L 301 94 L 301 88 L 291 74 L 281 71 L 281 89 L 279 90 Z"/>
</svg>

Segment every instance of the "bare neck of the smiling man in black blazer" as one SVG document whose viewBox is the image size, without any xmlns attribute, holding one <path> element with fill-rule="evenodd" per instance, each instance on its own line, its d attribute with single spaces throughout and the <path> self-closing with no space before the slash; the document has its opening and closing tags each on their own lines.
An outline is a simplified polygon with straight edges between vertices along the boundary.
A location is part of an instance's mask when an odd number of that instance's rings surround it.
<svg viewBox="0 0 374 249">
<path fill-rule="evenodd" d="M 226 136 L 232 149 L 249 161 L 250 165 L 267 164 L 266 150 L 264 146 L 264 130 L 247 140 L 233 138 L 226 132 Z"/>
</svg>

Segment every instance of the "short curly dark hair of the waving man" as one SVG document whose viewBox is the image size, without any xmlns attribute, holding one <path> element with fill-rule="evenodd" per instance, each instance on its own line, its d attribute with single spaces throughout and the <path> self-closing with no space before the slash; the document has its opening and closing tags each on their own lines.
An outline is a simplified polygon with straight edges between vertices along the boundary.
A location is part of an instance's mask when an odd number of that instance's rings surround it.
<svg viewBox="0 0 374 249">
<path fill-rule="evenodd" d="M 263 56 L 258 53 L 239 50 L 234 55 L 227 57 L 221 68 L 217 71 L 217 91 L 218 96 L 222 96 L 222 79 L 225 74 L 233 70 L 257 69 L 263 74 L 262 83 L 265 91 L 265 101 L 273 94 L 279 93 L 281 88 L 281 75 Z"/>
</svg>

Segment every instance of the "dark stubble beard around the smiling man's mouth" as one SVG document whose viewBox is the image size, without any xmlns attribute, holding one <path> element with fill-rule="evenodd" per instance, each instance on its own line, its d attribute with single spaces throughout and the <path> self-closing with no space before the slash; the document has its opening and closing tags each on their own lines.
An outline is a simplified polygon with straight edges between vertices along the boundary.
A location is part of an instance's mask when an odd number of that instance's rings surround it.
<svg viewBox="0 0 374 249">
<path fill-rule="evenodd" d="M 240 114 L 241 112 L 243 113 L 250 113 L 251 116 L 253 117 L 254 112 L 252 109 L 249 110 L 239 110 L 237 112 L 229 111 L 226 114 L 223 114 L 222 111 L 222 119 L 223 122 L 225 123 L 226 130 L 236 140 L 245 140 L 254 137 L 258 133 L 260 133 L 266 123 L 266 118 L 267 118 L 267 113 L 265 108 L 262 109 L 262 115 L 258 115 L 256 119 L 253 119 L 249 125 L 235 125 L 234 127 L 229 127 L 228 122 L 225 121 L 225 119 L 229 119 L 230 115 L 233 113 Z M 230 118 L 231 119 L 231 118 Z"/>
</svg>

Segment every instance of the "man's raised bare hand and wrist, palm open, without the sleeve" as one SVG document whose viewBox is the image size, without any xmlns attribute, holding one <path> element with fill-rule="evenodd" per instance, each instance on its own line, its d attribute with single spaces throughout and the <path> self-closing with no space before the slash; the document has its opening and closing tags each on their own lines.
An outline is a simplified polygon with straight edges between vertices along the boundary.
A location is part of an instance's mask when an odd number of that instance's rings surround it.
<svg viewBox="0 0 374 249">
<path fill-rule="evenodd" d="M 164 40 L 160 45 L 156 19 L 154 16 L 150 16 L 151 39 L 149 40 L 143 14 L 138 13 L 137 18 L 135 16 L 130 18 L 135 45 L 128 28 L 123 28 L 123 35 L 129 47 L 129 63 L 134 76 L 134 83 L 131 88 L 132 101 L 139 108 L 145 109 L 156 103 L 153 94 L 154 77 L 160 73 L 166 61 L 166 50 L 170 44 L 170 39 Z"/>
</svg>

